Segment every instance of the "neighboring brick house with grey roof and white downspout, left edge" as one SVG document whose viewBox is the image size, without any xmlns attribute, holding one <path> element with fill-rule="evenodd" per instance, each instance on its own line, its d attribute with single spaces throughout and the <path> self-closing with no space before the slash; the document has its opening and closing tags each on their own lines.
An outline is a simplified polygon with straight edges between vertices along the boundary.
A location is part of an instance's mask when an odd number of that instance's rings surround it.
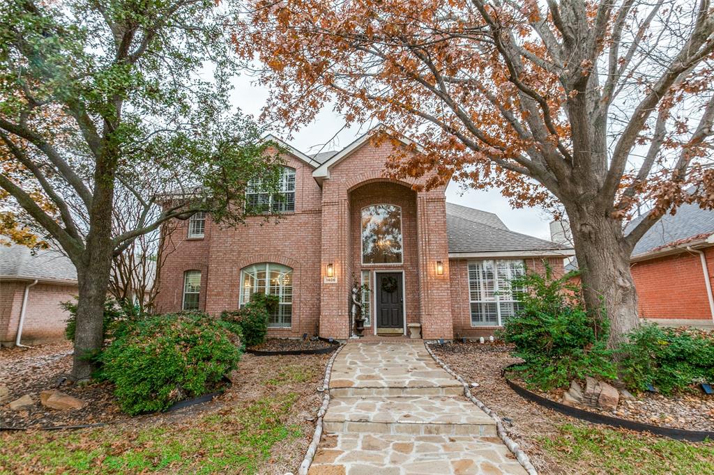
<svg viewBox="0 0 714 475">
<path fill-rule="evenodd" d="M 33 255 L 26 246 L 0 244 L 0 345 L 64 338 L 69 315 L 59 304 L 77 293 L 76 270 L 64 255 L 55 250 Z"/>
</svg>

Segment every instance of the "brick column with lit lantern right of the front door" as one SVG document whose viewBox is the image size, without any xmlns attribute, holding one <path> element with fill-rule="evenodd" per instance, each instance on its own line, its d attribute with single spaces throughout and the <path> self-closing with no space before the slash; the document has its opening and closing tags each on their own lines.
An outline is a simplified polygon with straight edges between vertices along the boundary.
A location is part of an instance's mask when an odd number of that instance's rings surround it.
<svg viewBox="0 0 714 475">
<path fill-rule="evenodd" d="M 453 339 L 451 286 L 443 190 L 420 192 L 416 198 L 421 334 L 424 339 Z M 443 262 L 438 275 L 436 262 Z"/>
</svg>

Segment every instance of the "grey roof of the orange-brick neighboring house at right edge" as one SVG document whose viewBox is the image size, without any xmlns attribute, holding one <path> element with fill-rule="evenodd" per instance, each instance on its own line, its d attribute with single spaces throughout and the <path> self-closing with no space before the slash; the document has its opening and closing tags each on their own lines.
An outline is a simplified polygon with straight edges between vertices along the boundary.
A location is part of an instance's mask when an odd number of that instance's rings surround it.
<svg viewBox="0 0 714 475">
<path fill-rule="evenodd" d="M 640 216 L 625 228 L 629 233 L 647 214 Z M 664 215 L 635 245 L 633 257 L 678 245 L 690 237 L 714 234 L 714 211 L 703 210 L 699 205 L 682 205 L 675 215 Z"/>
</svg>

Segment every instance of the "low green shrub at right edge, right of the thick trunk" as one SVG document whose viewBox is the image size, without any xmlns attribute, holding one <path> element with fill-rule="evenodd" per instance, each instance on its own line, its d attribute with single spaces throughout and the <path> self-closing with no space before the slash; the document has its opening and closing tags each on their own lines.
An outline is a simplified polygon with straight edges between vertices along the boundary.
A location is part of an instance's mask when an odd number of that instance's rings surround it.
<svg viewBox="0 0 714 475">
<path fill-rule="evenodd" d="M 618 352 L 620 375 L 630 389 L 652 384 L 671 394 L 714 382 L 714 337 L 703 332 L 643 325 Z"/>
</svg>

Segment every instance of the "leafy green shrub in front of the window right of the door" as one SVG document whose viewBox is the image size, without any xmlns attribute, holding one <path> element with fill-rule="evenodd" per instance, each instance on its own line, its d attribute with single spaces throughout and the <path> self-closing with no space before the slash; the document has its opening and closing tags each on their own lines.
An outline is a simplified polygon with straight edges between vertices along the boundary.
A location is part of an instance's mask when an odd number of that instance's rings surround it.
<svg viewBox="0 0 714 475">
<path fill-rule="evenodd" d="M 570 277 L 553 279 L 547 267 L 545 277 L 528 273 L 513 280 L 514 289 L 525 289 L 514 292 L 523 310 L 498 333 L 516 347 L 513 356 L 525 360 L 515 371 L 543 390 L 566 387 L 572 379 L 585 376 L 617 377 L 612 352 L 606 347 L 606 324 L 585 312 L 580 290 Z"/>
</svg>

